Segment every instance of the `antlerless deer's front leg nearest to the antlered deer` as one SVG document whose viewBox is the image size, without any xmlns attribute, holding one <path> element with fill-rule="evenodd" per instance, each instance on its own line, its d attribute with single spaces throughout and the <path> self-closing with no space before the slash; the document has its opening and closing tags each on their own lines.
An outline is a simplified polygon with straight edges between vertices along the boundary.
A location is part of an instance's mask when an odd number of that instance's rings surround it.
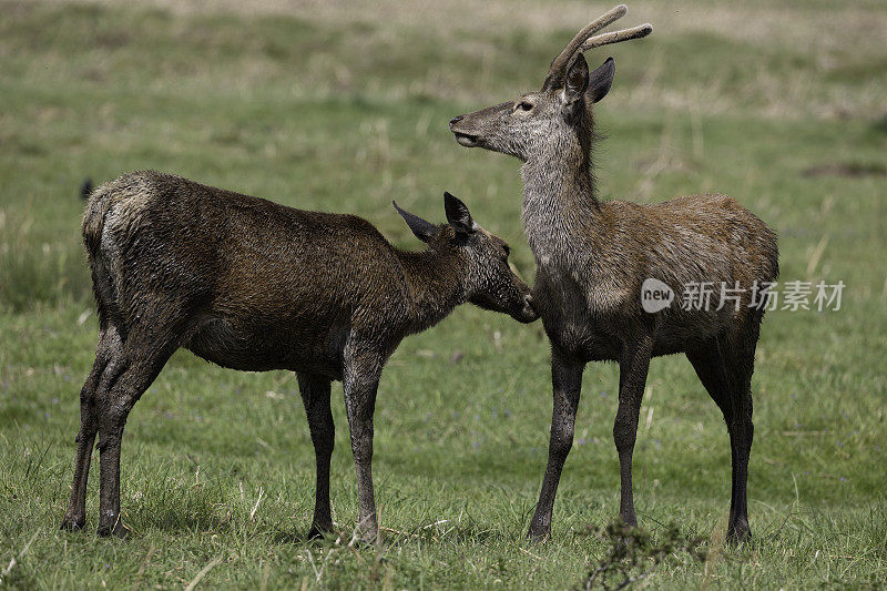
<svg viewBox="0 0 887 591">
<path fill-rule="evenodd" d="M 357 470 L 358 528 L 364 541 L 378 534 L 376 500 L 373 492 L 373 414 L 379 387 L 381 358 L 346 351 L 345 409 L 351 436 L 351 452 Z"/>
</svg>

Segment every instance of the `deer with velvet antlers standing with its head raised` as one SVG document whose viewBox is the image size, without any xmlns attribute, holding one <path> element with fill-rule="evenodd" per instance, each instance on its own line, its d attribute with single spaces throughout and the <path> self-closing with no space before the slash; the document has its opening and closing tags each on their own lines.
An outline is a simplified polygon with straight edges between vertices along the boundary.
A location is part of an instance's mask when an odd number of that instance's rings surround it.
<svg viewBox="0 0 887 591">
<path fill-rule="evenodd" d="M 743 540 L 750 533 L 751 379 L 765 307 L 753 295 L 758 285 L 776 278 L 776 237 L 724 195 L 649 205 L 597 198 L 592 104 L 610 90 L 614 67 L 609 58 L 589 73 L 582 52 L 650 33 L 652 28 L 644 24 L 591 37 L 625 12 L 619 6 L 582 29 L 551 63 L 540 91 L 450 121 L 461 145 L 523 162 L 522 217 L 537 262 L 533 302 L 551 340 L 554 390 L 548 467 L 529 537 L 550 536 L 582 370 L 591 360 L 620 366 L 613 426 L 620 514 L 636 524 L 631 461 L 650 358 L 683 351 L 726 420 L 733 457 L 728 536 Z M 726 298 L 715 294 L 705 309 L 672 305 L 648 313 L 641 300 L 648 278 L 677 294 L 691 285 L 725 285 L 742 296 L 737 305 L 724 305 Z"/>
</svg>

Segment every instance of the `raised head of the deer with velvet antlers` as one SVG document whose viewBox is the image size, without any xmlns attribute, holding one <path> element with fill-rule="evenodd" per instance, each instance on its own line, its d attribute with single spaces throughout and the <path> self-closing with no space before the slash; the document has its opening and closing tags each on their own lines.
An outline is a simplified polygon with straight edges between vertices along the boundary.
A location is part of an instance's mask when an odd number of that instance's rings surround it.
<svg viewBox="0 0 887 591">
<path fill-rule="evenodd" d="M 551 62 L 541 90 L 450 120 L 456 141 L 466 147 L 511 154 L 523 162 L 551 159 L 555 156 L 552 150 L 558 160 L 570 152 L 588 154 L 593 136 L 591 105 L 606 95 L 615 67 L 608 58 L 589 72 L 582 53 L 650 34 L 652 26 L 641 24 L 594 35 L 626 12 L 628 8 L 620 4 L 579 31 Z"/>
</svg>

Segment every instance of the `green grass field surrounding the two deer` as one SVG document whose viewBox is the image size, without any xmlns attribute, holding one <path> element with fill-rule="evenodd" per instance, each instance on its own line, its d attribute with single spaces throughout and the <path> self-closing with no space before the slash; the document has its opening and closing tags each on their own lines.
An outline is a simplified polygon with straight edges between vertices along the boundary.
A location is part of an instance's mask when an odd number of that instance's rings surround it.
<svg viewBox="0 0 887 591">
<path fill-rule="evenodd" d="M 384 544 L 357 514 L 340 387 L 333 502 L 341 540 L 303 539 L 307 422 L 286 373 L 177 353 L 123 444 L 129 541 L 57 530 L 96 320 L 80 240 L 85 176 L 137 169 L 350 212 L 419 248 L 390 207 L 442 221 L 441 194 L 532 256 L 518 163 L 458 147 L 447 121 L 537 88 L 609 4 L 458 0 L 0 0 L 0 578 L 11 588 L 572 588 L 618 513 L 618 371 L 590 365 L 552 539 L 523 534 L 546 465 L 548 345 L 459 308 L 383 375 L 374 475 Z M 879 0 L 632 4 L 641 42 L 597 118 L 604 197 L 720 191 L 778 231 L 781 279 L 843 281 L 838 312 L 769 313 L 757 353 L 754 538 L 724 548 L 730 450 L 683 357 L 650 371 L 634 459 L 641 526 L 703 537 L 650 588 L 876 588 L 887 580 L 887 7 Z M 94 466 L 98 462 L 94 462 Z M 10 562 L 14 559 L 14 562 Z"/>
</svg>

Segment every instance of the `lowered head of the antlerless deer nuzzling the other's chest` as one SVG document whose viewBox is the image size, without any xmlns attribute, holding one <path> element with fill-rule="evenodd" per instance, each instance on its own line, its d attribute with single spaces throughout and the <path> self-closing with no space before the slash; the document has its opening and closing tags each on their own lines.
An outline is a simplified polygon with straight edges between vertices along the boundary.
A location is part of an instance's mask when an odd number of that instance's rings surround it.
<svg viewBox="0 0 887 591">
<path fill-rule="evenodd" d="M 442 225 L 427 222 L 391 203 L 416 237 L 427 243 L 432 252 L 455 255 L 462 262 L 463 300 L 508 314 L 521 323 L 539 317 L 532 307 L 530 287 L 508 263 L 511 248 L 502 238 L 480 227 L 465 203 L 443 193 L 448 223 Z"/>
</svg>

